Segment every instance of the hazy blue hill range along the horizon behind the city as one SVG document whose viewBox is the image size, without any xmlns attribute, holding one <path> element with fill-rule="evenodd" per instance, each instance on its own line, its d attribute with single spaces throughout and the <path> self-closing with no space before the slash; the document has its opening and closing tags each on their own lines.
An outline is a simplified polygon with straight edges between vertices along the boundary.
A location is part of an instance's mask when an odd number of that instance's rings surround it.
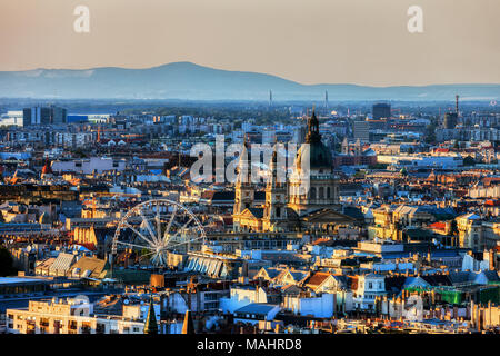
<svg viewBox="0 0 500 356">
<path fill-rule="evenodd" d="M 271 75 L 229 71 L 174 62 L 147 69 L 102 67 L 82 70 L 34 69 L 0 71 L 0 97 L 60 99 L 189 99 L 189 100 L 337 100 L 433 101 L 498 100 L 500 85 L 436 85 L 367 87 L 301 85 Z"/>
</svg>

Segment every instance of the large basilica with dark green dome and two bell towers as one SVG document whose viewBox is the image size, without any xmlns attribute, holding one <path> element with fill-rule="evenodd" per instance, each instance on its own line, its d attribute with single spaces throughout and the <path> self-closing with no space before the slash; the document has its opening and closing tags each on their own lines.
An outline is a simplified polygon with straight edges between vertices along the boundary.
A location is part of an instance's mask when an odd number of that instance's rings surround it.
<svg viewBox="0 0 500 356">
<path fill-rule="evenodd" d="M 309 169 L 304 159 L 309 158 Z M 304 164 L 304 165 L 303 165 Z M 272 152 L 266 186 L 266 202 L 254 202 L 250 150 L 244 142 L 238 166 L 234 192 L 236 231 L 291 233 L 333 231 L 337 225 L 354 222 L 341 214 L 339 178 L 333 171 L 330 150 L 321 142 L 314 110 L 308 118 L 306 144 L 297 151 L 292 172 L 286 182 L 277 179 L 277 151 Z"/>
</svg>

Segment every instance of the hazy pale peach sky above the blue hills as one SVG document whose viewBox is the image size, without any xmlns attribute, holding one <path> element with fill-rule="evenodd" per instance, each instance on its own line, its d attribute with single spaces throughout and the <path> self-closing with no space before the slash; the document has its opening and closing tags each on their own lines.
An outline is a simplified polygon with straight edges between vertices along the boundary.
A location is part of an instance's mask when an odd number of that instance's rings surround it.
<svg viewBox="0 0 500 356">
<path fill-rule="evenodd" d="M 423 33 L 407 30 L 414 4 Z M 192 61 L 302 83 L 500 83 L 499 16 L 500 0 L 0 0 L 0 70 Z"/>
</svg>

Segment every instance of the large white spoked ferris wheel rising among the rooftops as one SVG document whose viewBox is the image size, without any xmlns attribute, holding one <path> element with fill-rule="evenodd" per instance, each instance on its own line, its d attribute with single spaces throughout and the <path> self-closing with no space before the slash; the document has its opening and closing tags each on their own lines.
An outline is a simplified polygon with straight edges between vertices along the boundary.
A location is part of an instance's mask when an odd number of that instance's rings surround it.
<svg viewBox="0 0 500 356">
<path fill-rule="evenodd" d="M 156 266 L 167 264 L 168 251 L 187 251 L 191 243 L 204 244 L 200 220 L 184 206 L 152 199 L 130 209 L 118 224 L 111 253 L 133 249 Z"/>
</svg>

